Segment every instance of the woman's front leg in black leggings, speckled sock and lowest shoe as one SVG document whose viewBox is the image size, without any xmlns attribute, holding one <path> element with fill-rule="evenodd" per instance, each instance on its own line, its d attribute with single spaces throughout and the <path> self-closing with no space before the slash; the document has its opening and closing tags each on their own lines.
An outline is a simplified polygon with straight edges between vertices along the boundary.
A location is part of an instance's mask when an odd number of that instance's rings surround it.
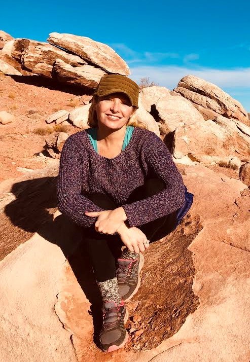
<svg viewBox="0 0 250 362">
<path fill-rule="evenodd" d="M 104 194 L 92 194 L 90 199 L 105 210 L 117 207 Z M 99 333 L 100 347 L 102 351 L 112 352 L 121 348 L 128 340 L 125 329 L 128 311 L 121 299 L 114 257 L 114 248 L 117 249 L 120 245 L 121 250 L 121 241 L 115 236 L 97 233 L 94 228 L 85 229 L 84 239 L 88 245 L 103 301 L 103 323 Z"/>
</svg>

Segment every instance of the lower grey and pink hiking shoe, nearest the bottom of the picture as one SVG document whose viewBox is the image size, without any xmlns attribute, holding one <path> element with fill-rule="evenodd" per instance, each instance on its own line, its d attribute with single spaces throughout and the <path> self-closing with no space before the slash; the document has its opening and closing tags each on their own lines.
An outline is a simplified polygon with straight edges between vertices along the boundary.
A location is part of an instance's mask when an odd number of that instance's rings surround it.
<svg viewBox="0 0 250 362">
<path fill-rule="evenodd" d="M 128 341 L 128 332 L 124 326 L 128 319 L 128 311 L 123 301 L 120 305 L 108 301 L 103 303 L 102 313 L 103 323 L 99 334 L 101 350 L 113 352 Z"/>
</svg>

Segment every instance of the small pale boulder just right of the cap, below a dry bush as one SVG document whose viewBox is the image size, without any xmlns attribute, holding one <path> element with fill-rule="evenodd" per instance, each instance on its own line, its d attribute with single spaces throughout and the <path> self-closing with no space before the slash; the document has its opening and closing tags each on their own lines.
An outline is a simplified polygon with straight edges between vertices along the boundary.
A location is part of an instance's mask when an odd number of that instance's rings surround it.
<svg viewBox="0 0 250 362">
<path fill-rule="evenodd" d="M 170 90 L 165 87 L 145 87 L 140 91 L 142 105 L 146 111 L 150 112 L 152 105 L 156 105 L 159 100 L 169 98 Z"/>
</svg>

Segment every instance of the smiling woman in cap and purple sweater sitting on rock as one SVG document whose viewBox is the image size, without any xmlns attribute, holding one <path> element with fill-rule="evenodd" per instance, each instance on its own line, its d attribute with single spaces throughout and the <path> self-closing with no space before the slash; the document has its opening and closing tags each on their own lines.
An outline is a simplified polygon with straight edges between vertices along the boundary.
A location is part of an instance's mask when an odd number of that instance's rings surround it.
<svg viewBox="0 0 250 362">
<path fill-rule="evenodd" d="M 140 285 L 141 253 L 187 212 L 182 176 L 164 142 L 134 119 L 138 94 L 129 78 L 103 76 L 90 128 L 66 140 L 60 159 L 58 207 L 83 228 L 103 301 L 100 347 L 108 352 L 128 340 L 124 302 Z"/>
</svg>

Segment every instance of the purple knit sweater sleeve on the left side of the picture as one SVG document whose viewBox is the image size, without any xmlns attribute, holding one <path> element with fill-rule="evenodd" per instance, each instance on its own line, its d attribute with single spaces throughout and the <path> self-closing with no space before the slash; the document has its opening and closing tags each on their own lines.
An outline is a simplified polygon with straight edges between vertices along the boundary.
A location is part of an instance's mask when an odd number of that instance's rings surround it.
<svg viewBox="0 0 250 362">
<path fill-rule="evenodd" d="M 90 227 L 95 224 L 97 217 L 91 218 L 84 212 L 103 211 L 103 209 L 82 195 L 82 183 L 86 182 L 83 179 L 83 167 L 76 141 L 69 137 L 64 143 L 60 157 L 57 183 L 58 208 L 79 226 Z"/>
</svg>

